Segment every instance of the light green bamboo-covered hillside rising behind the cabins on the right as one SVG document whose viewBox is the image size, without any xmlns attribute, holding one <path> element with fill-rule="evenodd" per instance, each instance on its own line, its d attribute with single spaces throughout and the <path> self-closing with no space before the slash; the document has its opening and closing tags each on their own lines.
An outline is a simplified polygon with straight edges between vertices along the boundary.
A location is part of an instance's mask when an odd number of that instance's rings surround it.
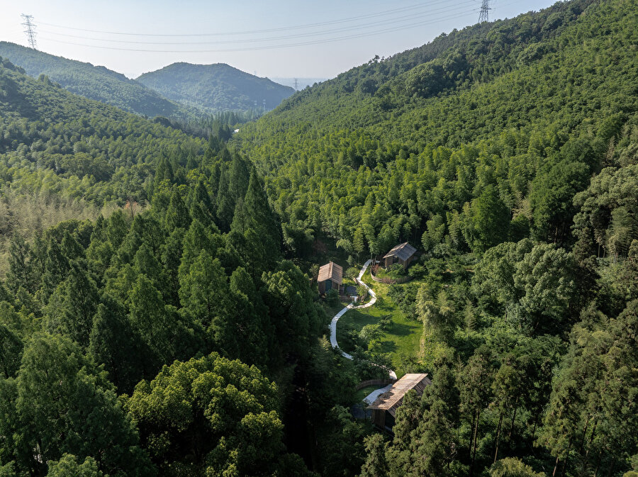
<svg viewBox="0 0 638 477">
<path fill-rule="evenodd" d="M 460 250 L 518 237 L 518 225 L 568 240 L 573 211 L 556 203 L 548 177 L 561 160 L 578 162 L 561 173 L 573 192 L 583 189 L 608 164 L 610 141 L 630 130 L 636 7 L 571 1 L 443 35 L 295 94 L 235 143 L 269 176 L 284 221 L 327 228 L 351 253 L 422 242 L 430 228 L 436 240 L 427 247 Z M 486 186 L 496 188 L 507 226 L 479 246 L 478 232 L 460 224 Z M 550 233 L 554 206 L 567 211 Z"/>
</svg>

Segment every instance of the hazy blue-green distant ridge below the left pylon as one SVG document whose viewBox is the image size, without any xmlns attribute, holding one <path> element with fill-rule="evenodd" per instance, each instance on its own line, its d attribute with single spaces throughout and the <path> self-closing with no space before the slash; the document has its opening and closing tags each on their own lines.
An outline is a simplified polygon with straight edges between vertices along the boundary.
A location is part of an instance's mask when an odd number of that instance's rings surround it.
<svg viewBox="0 0 638 477">
<path fill-rule="evenodd" d="M 130 113 L 151 118 L 166 116 L 184 119 L 191 116 L 184 106 L 105 67 L 67 60 L 4 41 L 0 42 L 0 57 L 22 67 L 32 77 L 45 74 L 72 93 L 117 106 Z"/>
</svg>

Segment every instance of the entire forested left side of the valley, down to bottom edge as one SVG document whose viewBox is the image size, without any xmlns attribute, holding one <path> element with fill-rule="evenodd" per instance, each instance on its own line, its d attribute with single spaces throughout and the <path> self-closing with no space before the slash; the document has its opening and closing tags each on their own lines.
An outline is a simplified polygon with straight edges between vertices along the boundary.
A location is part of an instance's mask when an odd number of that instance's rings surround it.
<svg viewBox="0 0 638 477">
<path fill-rule="evenodd" d="M 286 404 L 355 378 L 254 167 L 7 60 L 0 138 L 0 475 L 313 477 Z"/>
</svg>

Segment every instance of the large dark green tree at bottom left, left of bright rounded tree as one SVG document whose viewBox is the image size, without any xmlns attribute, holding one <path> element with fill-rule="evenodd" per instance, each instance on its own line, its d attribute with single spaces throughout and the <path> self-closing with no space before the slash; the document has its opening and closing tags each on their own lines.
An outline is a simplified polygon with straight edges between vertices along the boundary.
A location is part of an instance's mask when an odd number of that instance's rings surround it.
<svg viewBox="0 0 638 477">
<path fill-rule="evenodd" d="M 22 424 L 13 433 L 18 475 L 44 476 L 46 463 L 65 453 L 99 457 L 101 470 L 112 476 L 154 475 L 113 385 L 71 340 L 33 336 L 16 387 L 15 413 Z"/>
</svg>

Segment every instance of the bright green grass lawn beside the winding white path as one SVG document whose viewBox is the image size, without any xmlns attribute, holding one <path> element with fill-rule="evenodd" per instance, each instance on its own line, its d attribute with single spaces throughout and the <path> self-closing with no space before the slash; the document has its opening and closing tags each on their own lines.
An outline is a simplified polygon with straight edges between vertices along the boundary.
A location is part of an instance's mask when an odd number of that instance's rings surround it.
<svg viewBox="0 0 638 477">
<path fill-rule="evenodd" d="M 340 345 L 346 343 L 345 337 L 351 330 L 356 330 L 358 333 L 365 325 L 376 324 L 380 318 L 389 315 L 391 326 L 382 339 L 381 350 L 390 355 L 397 376 L 403 376 L 405 370 L 401 369 L 401 357 L 417 356 L 422 325 L 420 322 L 403 318 L 395 303 L 388 297 L 389 286 L 372 281 L 369 271 L 364 276 L 364 282 L 374 289 L 377 296 L 376 303 L 370 308 L 349 310 L 345 313 L 337 324 L 337 342 Z M 344 351 L 352 350 L 347 349 L 347 345 L 344 345 Z"/>
</svg>

